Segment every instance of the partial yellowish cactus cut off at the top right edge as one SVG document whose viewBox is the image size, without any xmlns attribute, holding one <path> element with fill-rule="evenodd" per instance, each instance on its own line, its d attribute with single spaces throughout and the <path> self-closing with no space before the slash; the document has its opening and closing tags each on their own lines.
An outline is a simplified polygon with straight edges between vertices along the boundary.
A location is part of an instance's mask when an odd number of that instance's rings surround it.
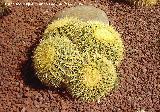
<svg viewBox="0 0 160 112">
<path fill-rule="evenodd" d="M 153 6 L 158 3 L 158 0 L 128 0 L 128 1 L 138 6 Z"/>
</svg>

